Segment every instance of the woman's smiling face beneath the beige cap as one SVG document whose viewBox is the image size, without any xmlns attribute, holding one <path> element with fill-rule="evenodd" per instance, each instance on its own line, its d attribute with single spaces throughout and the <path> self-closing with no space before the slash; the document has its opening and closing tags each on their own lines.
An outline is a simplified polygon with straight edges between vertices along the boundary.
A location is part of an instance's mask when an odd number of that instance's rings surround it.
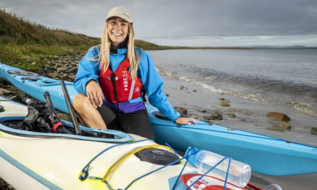
<svg viewBox="0 0 317 190">
<path fill-rule="evenodd" d="M 120 17 L 110 18 L 108 22 L 107 32 L 114 47 L 118 47 L 120 42 L 125 41 L 128 35 L 128 22 Z"/>
</svg>

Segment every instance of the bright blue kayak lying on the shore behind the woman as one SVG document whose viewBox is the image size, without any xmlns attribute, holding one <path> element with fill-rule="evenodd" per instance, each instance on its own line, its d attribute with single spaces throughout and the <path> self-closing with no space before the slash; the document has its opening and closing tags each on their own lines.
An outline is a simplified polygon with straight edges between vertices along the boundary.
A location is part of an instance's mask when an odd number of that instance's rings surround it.
<svg viewBox="0 0 317 190">
<path fill-rule="evenodd" d="M 58 80 L 38 76 L 0 63 L 0 77 L 29 96 L 45 101 L 49 91 L 56 109 L 68 113 Z M 78 93 L 72 82 L 65 82 L 73 100 Z M 317 173 L 317 148 L 287 140 L 198 121 L 198 125 L 177 125 L 157 115 L 157 108 L 146 105 L 155 141 L 168 143 L 174 149 L 186 151 L 197 147 L 247 163 L 252 171 L 282 176 Z"/>
</svg>

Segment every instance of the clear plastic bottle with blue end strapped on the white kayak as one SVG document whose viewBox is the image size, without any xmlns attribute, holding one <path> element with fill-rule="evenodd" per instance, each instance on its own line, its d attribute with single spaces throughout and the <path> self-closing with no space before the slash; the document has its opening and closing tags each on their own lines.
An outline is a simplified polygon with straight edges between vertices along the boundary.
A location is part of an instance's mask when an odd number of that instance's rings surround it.
<svg viewBox="0 0 317 190">
<path fill-rule="evenodd" d="M 196 151 L 198 151 L 198 149 L 189 147 L 186 151 L 185 156 L 190 155 Z M 200 150 L 197 153 L 191 155 L 187 159 L 192 165 L 198 168 L 201 172 L 205 173 L 208 170 L 210 170 L 212 167 L 214 167 L 223 158 L 224 156 L 221 156 L 219 154 L 206 151 L 206 150 Z M 219 178 L 221 180 L 225 180 L 225 176 L 227 175 L 227 171 L 228 171 L 228 163 L 229 163 L 229 159 L 223 160 L 208 175 Z M 244 187 L 250 181 L 250 178 L 251 178 L 250 165 L 231 159 L 227 182 L 239 187 Z"/>
</svg>

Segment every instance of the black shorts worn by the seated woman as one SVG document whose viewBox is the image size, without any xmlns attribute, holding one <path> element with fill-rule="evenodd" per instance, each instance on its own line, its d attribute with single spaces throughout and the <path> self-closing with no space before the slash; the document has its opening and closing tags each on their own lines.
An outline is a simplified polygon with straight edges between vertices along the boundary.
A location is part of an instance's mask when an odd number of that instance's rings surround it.
<svg viewBox="0 0 317 190">
<path fill-rule="evenodd" d="M 124 131 L 154 140 L 154 132 L 146 109 L 122 113 L 105 105 L 97 107 L 107 129 Z"/>
</svg>

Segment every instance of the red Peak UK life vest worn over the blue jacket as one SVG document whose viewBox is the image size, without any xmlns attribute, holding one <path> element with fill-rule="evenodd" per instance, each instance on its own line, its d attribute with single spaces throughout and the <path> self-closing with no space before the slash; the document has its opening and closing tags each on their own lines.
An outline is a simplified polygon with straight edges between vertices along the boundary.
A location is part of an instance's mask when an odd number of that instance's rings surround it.
<svg viewBox="0 0 317 190">
<path fill-rule="evenodd" d="M 112 72 L 109 67 L 100 72 L 99 84 L 107 101 L 120 104 L 141 97 L 142 82 L 138 76 L 132 81 L 129 67 L 130 61 L 126 57 L 116 72 Z"/>
</svg>

